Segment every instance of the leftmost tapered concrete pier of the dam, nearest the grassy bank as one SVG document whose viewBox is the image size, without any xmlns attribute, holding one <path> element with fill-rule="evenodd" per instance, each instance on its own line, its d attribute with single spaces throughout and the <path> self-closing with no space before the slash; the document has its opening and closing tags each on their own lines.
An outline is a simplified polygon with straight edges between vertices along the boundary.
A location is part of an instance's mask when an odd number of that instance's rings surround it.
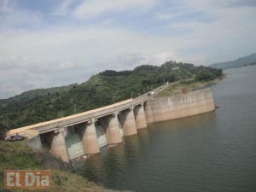
<svg viewBox="0 0 256 192">
<path fill-rule="evenodd" d="M 56 157 L 60 157 L 61 160 L 69 162 L 65 137 L 66 131 L 64 128 L 53 131 L 51 134 L 50 152 Z"/>
</svg>

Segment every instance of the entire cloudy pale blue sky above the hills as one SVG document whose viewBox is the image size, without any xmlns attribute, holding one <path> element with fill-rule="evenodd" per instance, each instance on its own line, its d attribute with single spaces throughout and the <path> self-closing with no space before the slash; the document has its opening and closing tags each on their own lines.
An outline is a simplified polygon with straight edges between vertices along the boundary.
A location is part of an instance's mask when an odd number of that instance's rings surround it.
<svg viewBox="0 0 256 192">
<path fill-rule="evenodd" d="M 254 52 L 255 0 L 0 0 L 0 99 L 106 69 Z"/>
</svg>

